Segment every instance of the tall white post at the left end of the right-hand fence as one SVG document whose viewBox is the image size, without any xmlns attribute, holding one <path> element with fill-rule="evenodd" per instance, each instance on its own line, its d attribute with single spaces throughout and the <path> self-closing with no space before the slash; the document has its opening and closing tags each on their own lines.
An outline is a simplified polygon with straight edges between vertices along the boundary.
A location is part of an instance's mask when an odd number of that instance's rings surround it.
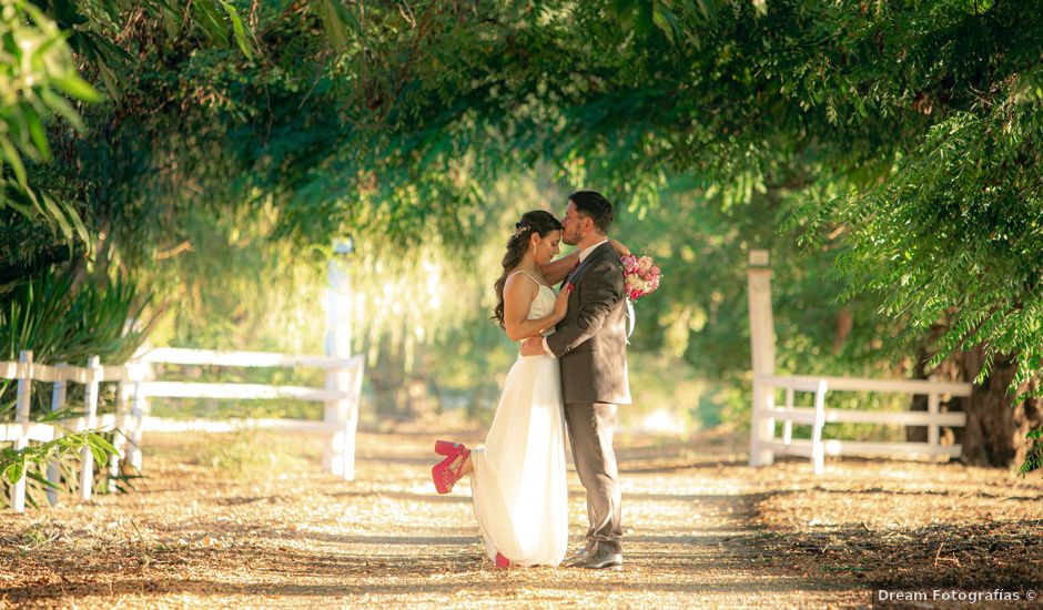
<svg viewBox="0 0 1043 610">
<path fill-rule="evenodd" d="M 771 315 L 771 270 L 766 250 L 751 250 L 747 278 L 750 311 L 750 355 L 753 368 L 753 405 L 750 425 L 750 466 L 771 464 L 774 455 L 761 443 L 774 436 L 774 419 L 761 415 L 767 408 L 767 393 L 761 378 L 774 374 L 774 322 Z"/>
</svg>

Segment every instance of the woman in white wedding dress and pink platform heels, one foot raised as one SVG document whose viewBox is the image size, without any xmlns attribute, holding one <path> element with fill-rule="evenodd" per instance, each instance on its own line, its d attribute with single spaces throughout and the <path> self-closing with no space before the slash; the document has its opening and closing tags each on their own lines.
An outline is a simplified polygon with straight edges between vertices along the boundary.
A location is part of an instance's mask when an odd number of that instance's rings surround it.
<svg viewBox="0 0 1043 610">
<path fill-rule="evenodd" d="M 561 223 L 543 210 L 526 212 L 507 241 L 504 272 L 495 284 L 495 319 L 512 340 L 549 335 L 568 311 L 565 279 L 579 252 L 554 261 Z M 626 252 L 615 240 L 612 246 Z M 558 566 L 568 542 L 565 419 L 558 363 L 518 357 L 507 374 L 485 446 L 474 450 L 439 440 L 446 456 L 432 468 L 439 494 L 472 475 L 475 517 L 496 567 Z"/>
</svg>

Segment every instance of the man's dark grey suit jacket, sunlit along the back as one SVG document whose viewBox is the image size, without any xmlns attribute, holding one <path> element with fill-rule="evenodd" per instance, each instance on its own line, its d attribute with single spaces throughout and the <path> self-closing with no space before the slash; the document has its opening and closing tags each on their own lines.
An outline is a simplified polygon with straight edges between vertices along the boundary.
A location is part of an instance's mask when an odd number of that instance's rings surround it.
<svg viewBox="0 0 1043 610">
<path fill-rule="evenodd" d="M 561 365 L 565 404 L 629 405 L 626 283 L 611 244 L 595 248 L 570 281 L 568 313 L 547 337 Z"/>
</svg>

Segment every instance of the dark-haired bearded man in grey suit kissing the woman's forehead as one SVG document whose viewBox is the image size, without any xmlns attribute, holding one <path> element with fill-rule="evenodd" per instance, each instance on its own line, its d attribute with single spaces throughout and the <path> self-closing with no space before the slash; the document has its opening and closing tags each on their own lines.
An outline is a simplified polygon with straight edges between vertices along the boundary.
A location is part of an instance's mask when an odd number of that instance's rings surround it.
<svg viewBox="0 0 1043 610">
<path fill-rule="evenodd" d="M 590 569 L 622 566 L 612 430 L 617 405 L 630 404 L 630 388 L 622 266 L 608 243 L 614 215 L 612 204 L 600 193 L 569 195 L 561 241 L 579 248 L 579 262 L 565 279 L 576 286 L 568 313 L 554 334 L 522 345 L 523 356 L 550 354 L 561 366 L 565 421 L 590 519 L 586 547 L 567 565 Z"/>
</svg>

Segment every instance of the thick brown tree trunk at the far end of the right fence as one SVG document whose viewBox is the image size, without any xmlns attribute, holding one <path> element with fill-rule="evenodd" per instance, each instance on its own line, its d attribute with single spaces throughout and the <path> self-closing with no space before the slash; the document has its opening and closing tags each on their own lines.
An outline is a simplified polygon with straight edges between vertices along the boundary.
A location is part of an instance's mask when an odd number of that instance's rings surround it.
<svg viewBox="0 0 1043 610">
<path fill-rule="evenodd" d="M 964 380 L 970 382 L 978 376 L 983 360 L 981 349 L 959 355 Z M 989 377 L 980 385 L 974 384 L 966 403 L 965 464 L 1011 466 L 1024 461 L 1031 447 L 1025 435 L 1043 423 L 1043 400 L 1031 398 L 1012 405 L 1014 395 L 1007 388 L 1015 368 L 1016 356 L 996 356 Z"/>
</svg>

